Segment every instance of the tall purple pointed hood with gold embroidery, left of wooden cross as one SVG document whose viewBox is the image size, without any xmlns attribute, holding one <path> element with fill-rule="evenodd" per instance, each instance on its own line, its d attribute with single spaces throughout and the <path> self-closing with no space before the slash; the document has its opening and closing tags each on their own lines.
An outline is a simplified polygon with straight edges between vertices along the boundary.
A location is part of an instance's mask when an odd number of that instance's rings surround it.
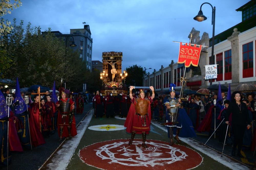
<svg viewBox="0 0 256 170">
<path fill-rule="evenodd" d="M 25 111 L 27 111 L 27 106 L 23 98 L 20 94 L 20 88 L 19 88 L 19 80 L 18 77 L 16 79 L 16 89 L 15 89 L 15 95 L 14 95 L 14 114 L 21 114 Z"/>
</svg>

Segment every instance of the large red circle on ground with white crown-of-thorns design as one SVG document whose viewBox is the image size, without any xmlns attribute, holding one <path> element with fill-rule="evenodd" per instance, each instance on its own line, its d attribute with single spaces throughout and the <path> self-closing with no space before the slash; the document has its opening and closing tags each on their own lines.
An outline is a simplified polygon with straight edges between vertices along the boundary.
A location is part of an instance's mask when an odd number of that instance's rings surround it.
<svg viewBox="0 0 256 170">
<path fill-rule="evenodd" d="M 148 148 L 142 148 L 141 139 L 109 140 L 94 143 L 80 150 L 80 159 L 101 169 L 190 169 L 201 164 L 203 158 L 196 151 L 181 145 L 169 146 L 168 142 L 146 140 Z"/>
</svg>

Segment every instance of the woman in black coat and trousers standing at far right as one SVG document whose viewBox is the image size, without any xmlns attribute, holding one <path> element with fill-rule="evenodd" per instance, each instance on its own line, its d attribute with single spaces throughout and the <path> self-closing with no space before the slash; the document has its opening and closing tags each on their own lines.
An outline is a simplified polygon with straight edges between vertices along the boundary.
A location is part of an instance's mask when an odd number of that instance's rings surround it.
<svg viewBox="0 0 256 170">
<path fill-rule="evenodd" d="M 234 91 L 231 95 L 231 102 L 227 109 L 226 123 L 229 124 L 228 117 L 232 113 L 231 127 L 234 134 L 232 156 L 235 156 L 236 147 L 238 147 L 237 155 L 243 158 L 241 147 L 243 143 L 244 131 L 251 128 L 248 109 L 245 103 L 241 100 L 241 93 Z"/>
</svg>

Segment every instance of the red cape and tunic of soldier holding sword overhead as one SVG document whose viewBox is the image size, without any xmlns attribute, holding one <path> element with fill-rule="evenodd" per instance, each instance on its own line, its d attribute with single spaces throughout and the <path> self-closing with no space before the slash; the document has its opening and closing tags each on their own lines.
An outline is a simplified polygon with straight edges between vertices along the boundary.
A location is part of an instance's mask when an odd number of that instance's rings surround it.
<svg viewBox="0 0 256 170">
<path fill-rule="evenodd" d="M 146 100 L 146 99 L 143 99 L 143 100 Z M 147 112 L 148 112 L 148 119 L 146 118 L 146 126 L 142 126 L 141 124 L 141 121 L 138 122 L 138 115 L 136 115 L 136 111 L 135 111 L 135 105 L 136 105 L 136 100 L 135 98 L 133 98 L 131 100 L 132 104 L 131 104 L 131 107 L 129 109 L 129 112 L 128 112 L 128 115 L 127 115 L 127 118 L 125 120 L 125 123 L 124 123 L 124 127 L 127 127 L 126 128 L 126 132 L 128 133 L 132 133 L 133 130 L 136 131 L 136 134 L 142 134 L 142 132 L 146 132 L 146 134 L 149 133 L 150 131 L 150 124 L 151 124 L 151 107 L 150 107 L 150 104 L 152 103 L 152 99 L 149 98 L 148 100 L 148 109 L 147 109 Z M 145 129 L 138 129 L 138 128 L 134 128 L 135 127 L 143 127 Z"/>
</svg>

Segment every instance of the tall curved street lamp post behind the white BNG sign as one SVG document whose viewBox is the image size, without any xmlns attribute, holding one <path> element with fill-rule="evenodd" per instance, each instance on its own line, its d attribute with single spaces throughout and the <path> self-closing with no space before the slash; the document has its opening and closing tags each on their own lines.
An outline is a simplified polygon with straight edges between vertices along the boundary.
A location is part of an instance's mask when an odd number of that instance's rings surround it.
<svg viewBox="0 0 256 170">
<path fill-rule="evenodd" d="M 211 64 L 214 64 L 214 32 L 215 32 L 215 7 L 212 7 L 212 5 L 208 2 L 202 3 L 204 4 L 209 4 L 212 8 L 212 18 L 211 18 L 211 24 L 212 24 L 212 47 L 211 47 Z M 197 14 L 197 16 L 194 17 L 194 20 L 197 20 L 199 22 L 204 21 L 207 19 L 206 16 L 203 15 L 202 11 L 202 5 L 200 6 L 200 10 Z M 212 79 L 210 79 L 210 85 L 212 85 Z"/>
</svg>

